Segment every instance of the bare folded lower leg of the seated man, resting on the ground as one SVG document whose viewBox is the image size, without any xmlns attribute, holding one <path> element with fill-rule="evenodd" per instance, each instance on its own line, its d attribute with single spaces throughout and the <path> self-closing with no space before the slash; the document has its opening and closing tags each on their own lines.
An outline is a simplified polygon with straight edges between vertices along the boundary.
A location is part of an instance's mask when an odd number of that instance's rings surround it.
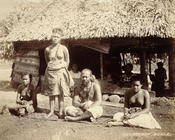
<svg viewBox="0 0 175 140">
<path fill-rule="evenodd" d="M 68 121 L 80 121 L 80 120 L 85 120 L 90 118 L 92 115 L 91 113 L 89 113 L 88 111 L 84 112 L 82 115 L 80 116 L 76 116 L 76 117 L 72 117 L 72 116 L 66 116 L 65 120 Z"/>
</svg>

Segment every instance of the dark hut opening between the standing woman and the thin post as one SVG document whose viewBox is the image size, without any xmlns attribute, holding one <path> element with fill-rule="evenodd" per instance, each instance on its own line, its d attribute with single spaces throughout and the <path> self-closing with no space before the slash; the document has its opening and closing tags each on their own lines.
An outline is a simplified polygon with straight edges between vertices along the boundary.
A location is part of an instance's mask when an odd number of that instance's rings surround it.
<svg viewBox="0 0 175 140">
<path fill-rule="evenodd" d="M 84 46 L 69 47 L 70 68 L 72 64 L 77 64 L 78 71 L 84 68 L 92 70 L 96 78 L 100 78 L 100 53 Z"/>
</svg>

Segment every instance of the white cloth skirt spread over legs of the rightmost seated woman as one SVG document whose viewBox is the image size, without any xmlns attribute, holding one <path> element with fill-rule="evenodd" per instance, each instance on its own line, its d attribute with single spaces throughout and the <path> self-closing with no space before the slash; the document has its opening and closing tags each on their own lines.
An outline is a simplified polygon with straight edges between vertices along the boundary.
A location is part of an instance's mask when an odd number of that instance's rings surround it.
<svg viewBox="0 0 175 140">
<path fill-rule="evenodd" d="M 136 126 L 148 129 L 154 129 L 154 128 L 161 129 L 159 123 L 154 119 L 151 112 L 141 114 L 135 118 L 128 120 L 124 120 L 123 112 L 118 112 L 114 114 L 113 120 L 117 122 L 123 122 L 124 124 L 127 124 L 129 126 Z"/>
</svg>

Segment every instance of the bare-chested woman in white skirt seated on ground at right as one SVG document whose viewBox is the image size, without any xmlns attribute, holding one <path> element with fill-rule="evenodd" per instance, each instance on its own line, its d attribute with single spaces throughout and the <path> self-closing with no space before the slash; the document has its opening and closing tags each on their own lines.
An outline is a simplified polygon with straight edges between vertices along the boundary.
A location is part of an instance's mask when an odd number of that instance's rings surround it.
<svg viewBox="0 0 175 140">
<path fill-rule="evenodd" d="M 132 88 L 125 93 L 124 112 L 114 114 L 114 121 L 108 122 L 108 126 L 128 125 L 161 129 L 150 112 L 150 95 L 141 87 L 139 77 L 133 77 Z"/>
</svg>

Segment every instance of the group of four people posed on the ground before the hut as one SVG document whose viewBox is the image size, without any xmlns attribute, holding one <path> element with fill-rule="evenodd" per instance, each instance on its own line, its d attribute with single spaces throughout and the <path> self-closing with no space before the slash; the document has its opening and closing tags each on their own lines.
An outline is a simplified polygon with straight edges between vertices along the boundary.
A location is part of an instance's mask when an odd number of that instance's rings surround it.
<svg viewBox="0 0 175 140">
<path fill-rule="evenodd" d="M 64 107 L 64 98 L 70 96 L 70 88 L 74 81 L 68 71 L 69 52 L 61 45 L 61 30 L 54 29 L 52 45 L 45 49 L 47 68 L 44 77 L 44 95 L 49 97 L 50 112 L 47 118 L 54 115 L 55 99 L 58 98 L 57 114 L 59 118 L 67 121 L 89 119 L 95 122 L 103 115 L 102 93 L 98 80 L 90 69 L 83 69 L 80 73 L 80 83 L 74 86 L 72 105 Z M 22 76 L 23 83 L 18 87 L 15 107 L 19 115 L 34 112 L 32 108 L 36 101 L 36 94 L 31 85 L 31 75 Z M 142 89 L 139 77 L 132 78 L 132 87 L 125 93 L 124 112 L 114 114 L 112 125 L 129 125 L 143 128 L 161 128 L 150 112 L 150 96 L 148 91 Z"/>
</svg>

